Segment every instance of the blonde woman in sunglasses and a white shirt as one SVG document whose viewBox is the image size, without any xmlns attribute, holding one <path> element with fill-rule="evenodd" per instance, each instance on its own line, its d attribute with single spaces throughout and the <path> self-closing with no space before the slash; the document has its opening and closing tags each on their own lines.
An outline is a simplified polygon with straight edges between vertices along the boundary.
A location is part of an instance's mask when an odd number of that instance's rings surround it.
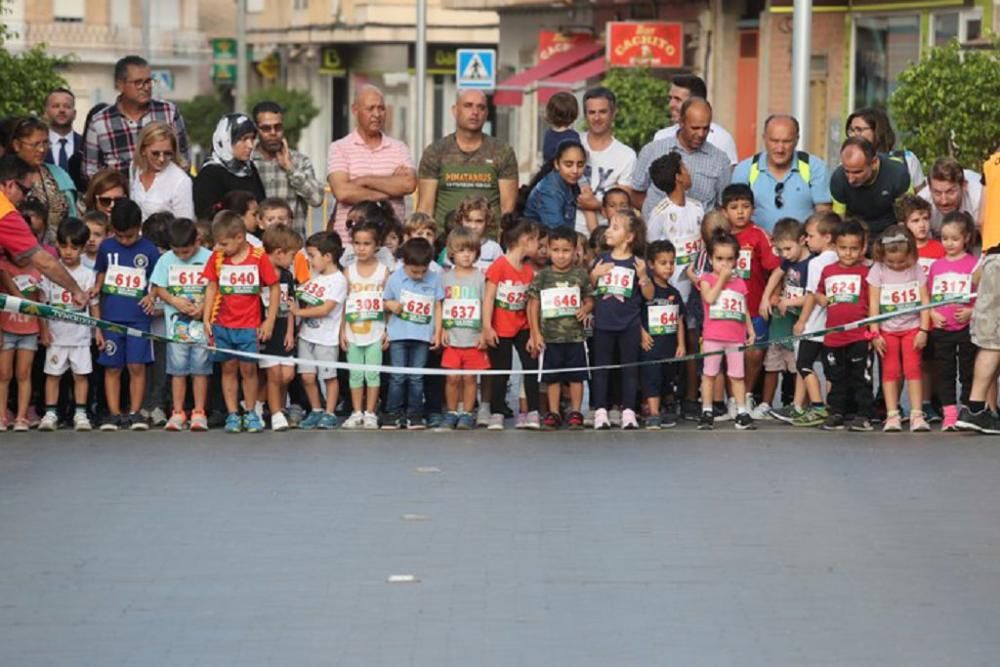
<svg viewBox="0 0 1000 667">
<path fill-rule="evenodd" d="M 144 220 L 161 211 L 194 218 L 191 177 L 181 160 L 174 128 L 160 122 L 142 128 L 129 169 L 129 190 Z"/>
</svg>

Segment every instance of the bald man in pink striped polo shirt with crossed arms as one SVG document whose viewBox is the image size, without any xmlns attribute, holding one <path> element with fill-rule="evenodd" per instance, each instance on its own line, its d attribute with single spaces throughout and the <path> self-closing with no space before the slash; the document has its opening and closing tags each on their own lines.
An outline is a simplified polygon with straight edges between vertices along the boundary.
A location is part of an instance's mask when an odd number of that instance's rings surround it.
<svg viewBox="0 0 1000 667">
<path fill-rule="evenodd" d="M 388 200 L 402 222 L 403 197 L 417 188 L 410 149 L 382 132 L 385 124 L 382 91 L 375 86 L 362 86 L 351 110 L 357 128 L 330 144 L 327 157 L 327 181 L 337 199 L 333 229 L 344 243 L 351 241 L 345 223 L 354 204 Z"/>
</svg>

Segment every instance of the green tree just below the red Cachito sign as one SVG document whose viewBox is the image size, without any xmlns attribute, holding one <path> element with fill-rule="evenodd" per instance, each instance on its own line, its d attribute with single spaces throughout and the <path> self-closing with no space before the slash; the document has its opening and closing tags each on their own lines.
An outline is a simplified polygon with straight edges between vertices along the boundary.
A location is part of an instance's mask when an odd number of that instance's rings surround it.
<svg viewBox="0 0 1000 667">
<path fill-rule="evenodd" d="M 670 124 L 668 88 L 648 67 L 616 67 L 601 85 L 618 98 L 615 138 L 636 151 L 649 143 L 656 131 Z"/>
</svg>

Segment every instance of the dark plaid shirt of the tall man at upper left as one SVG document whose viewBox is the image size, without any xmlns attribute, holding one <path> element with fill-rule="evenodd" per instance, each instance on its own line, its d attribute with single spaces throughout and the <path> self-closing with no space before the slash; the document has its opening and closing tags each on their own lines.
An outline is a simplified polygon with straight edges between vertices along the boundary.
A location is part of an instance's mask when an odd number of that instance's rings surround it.
<svg viewBox="0 0 1000 667">
<path fill-rule="evenodd" d="M 177 132 L 177 147 L 184 162 L 190 162 L 187 128 L 181 112 L 172 102 L 150 100 L 142 118 L 134 121 L 118 110 L 118 103 L 94 115 L 84 139 L 83 175 L 90 179 L 101 169 L 117 169 L 128 176 L 132 156 L 139 142 L 139 132 L 153 121 L 160 121 Z"/>
</svg>

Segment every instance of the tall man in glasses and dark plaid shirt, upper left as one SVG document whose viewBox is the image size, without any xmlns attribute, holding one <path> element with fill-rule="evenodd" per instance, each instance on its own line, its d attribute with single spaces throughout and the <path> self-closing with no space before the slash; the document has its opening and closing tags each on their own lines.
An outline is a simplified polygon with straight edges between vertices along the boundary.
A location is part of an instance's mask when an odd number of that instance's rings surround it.
<svg viewBox="0 0 1000 667">
<path fill-rule="evenodd" d="M 154 120 L 174 128 L 180 153 L 185 161 L 190 161 L 184 119 L 173 103 L 153 99 L 149 63 L 139 56 L 126 56 L 115 63 L 115 89 L 118 99 L 94 114 L 87 128 L 83 159 L 85 178 L 89 180 L 105 168 L 127 175 L 139 144 L 139 132 Z"/>
</svg>

